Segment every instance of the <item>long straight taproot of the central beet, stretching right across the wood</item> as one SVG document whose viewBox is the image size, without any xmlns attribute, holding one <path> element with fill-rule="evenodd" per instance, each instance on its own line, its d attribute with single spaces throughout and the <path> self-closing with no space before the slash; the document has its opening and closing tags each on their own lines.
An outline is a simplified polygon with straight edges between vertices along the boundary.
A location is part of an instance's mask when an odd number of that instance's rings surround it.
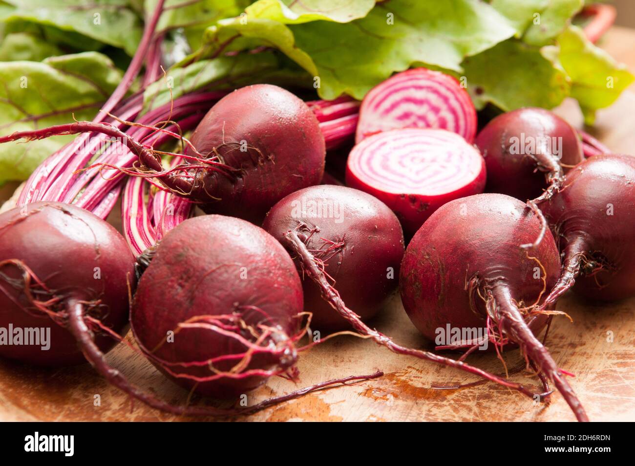
<svg viewBox="0 0 635 466">
<path fill-rule="evenodd" d="M 307 249 L 305 243 L 302 242 L 302 240 L 300 240 L 300 238 L 298 237 L 297 231 L 288 231 L 288 233 L 286 234 L 286 239 L 288 240 L 288 244 L 290 245 L 291 249 L 293 249 L 295 254 L 297 254 L 297 256 L 300 258 L 300 261 L 302 261 L 304 273 L 306 273 L 311 278 L 311 280 L 313 280 L 320 287 L 324 299 L 326 299 L 326 301 L 333 307 L 333 309 L 335 309 L 342 317 L 344 317 L 344 319 L 349 321 L 352 327 L 359 333 L 369 336 L 376 343 L 385 346 L 394 353 L 413 356 L 417 357 L 418 359 L 425 359 L 432 362 L 438 362 L 439 364 L 443 364 L 445 366 L 456 367 L 457 369 L 462 369 L 463 371 L 481 376 L 486 380 L 495 381 L 497 383 L 500 383 L 501 385 L 504 385 L 505 387 L 518 390 L 519 392 L 531 398 L 537 395 L 518 383 L 505 380 L 494 374 L 490 374 L 476 367 L 469 366 L 469 364 L 465 364 L 462 361 L 453 360 L 427 351 L 415 350 L 413 348 L 406 348 L 404 346 L 398 345 L 388 336 L 385 336 L 377 330 L 371 329 L 366 324 L 364 324 L 364 322 L 362 322 L 362 320 L 359 318 L 359 315 L 357 315 L 351 309 L 347 308 L 344 301 L 342 301 L 342 298 L 340 298 L 337 290 L 334 289 L 328 282 L 326 275 L 324 275 L 324 271 L 321 270 L 318 265 L 318 261 L 316 261 L 315 257 Z M 540 396 L 540 399 L 544 399 L 544 397 L 546 397 L 548 394 L 538 395 Z"/>
</svg>

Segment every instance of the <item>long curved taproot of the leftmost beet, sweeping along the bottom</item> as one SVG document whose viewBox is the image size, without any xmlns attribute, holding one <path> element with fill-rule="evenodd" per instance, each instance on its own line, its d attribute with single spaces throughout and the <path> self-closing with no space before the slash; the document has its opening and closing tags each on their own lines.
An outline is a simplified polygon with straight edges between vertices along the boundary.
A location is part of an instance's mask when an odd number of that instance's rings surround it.
<svg viewBox="0 0 635 466">
<path fill-rule="evenodd" d="M 117 369 L 110 366 L 108 362 L 105 360 L 104 353 L 100 351 L 100 349 L 95 345 L 95 341 L 93 341 L 92 332 L 86 325 L 85 314 L 84 314 L 84 305 L 77 301 L 76 299 L 69 299 L 67 303 L 67 312 L 69 319 L 69 329 L 72 334 L 77 339 L 79 346 L 84 353 L 84 356 L 90 362 L 90 364 L 95 367 L 98 373 L 102 374 L 115 387 L 121 389 L 126 394 L 129 394 L 139 401 L 144 402 L 148 406 L 152 408 L 161 409 L 161 411 L 165 411 L 166 413 L 171 413 L 173 415 L 186 415 L 186 416 L 245 416 L 251 415 L 253 413 L 257 413 L 258 411 L 262 411 L 265 408 L 269 408 L 270 406 L 274 406 L 275 404 L 279 404 L 284 401 L 292 400 L 298 398 L 302 395 L 305 395 L 309 392 L 314 392 L 316 390 L 321 390 L 322 388 L 330 387 L 331 385 L 336 385 L 338 383 L 345 384 L 350 381 L 356 380 L 371 380 L 378 378 L 384 373 L 377 371 L 373 374 L 364 375 L 364 376 L 349 376 L 340 379 L 327 380 L 316 385 L 311 385 L 311 387 L 305 387 L 300 390 L 296 390 L 295 392 L 291 392 L 286 395 L 281 395 L 279 397 L 272 397 L 266 399 L 265 401 L 261 401 L 258 404 L 253 406 L 245 406 L 242 408 L 215 408 L 213 406 L 177 406 L 170 404 L 168 402 L 162 401 L 154 397 L 154 395 L 147 394 L 140 390 L 140 388 L 131 385 L 130 382 L 121 374 Z"/>
</svg>

